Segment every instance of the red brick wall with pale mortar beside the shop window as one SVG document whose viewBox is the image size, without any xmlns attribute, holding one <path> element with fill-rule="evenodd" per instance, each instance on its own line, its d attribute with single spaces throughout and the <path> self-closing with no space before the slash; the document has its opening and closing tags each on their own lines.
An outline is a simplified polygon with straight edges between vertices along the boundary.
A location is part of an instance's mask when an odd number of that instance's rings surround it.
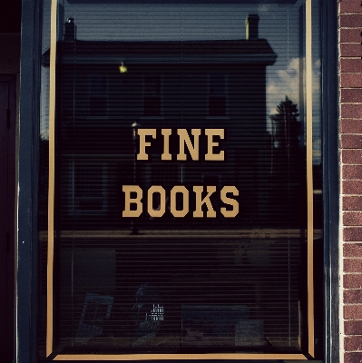
<svg viewBox="0 0 362 363">
<path fill-rule="evenodd" d="M 329 1 L 329 0 L 328 0 Z M 343 235 L 341 361 L 362 362 L 362 0 L 339 0 Z"/>
</svg>

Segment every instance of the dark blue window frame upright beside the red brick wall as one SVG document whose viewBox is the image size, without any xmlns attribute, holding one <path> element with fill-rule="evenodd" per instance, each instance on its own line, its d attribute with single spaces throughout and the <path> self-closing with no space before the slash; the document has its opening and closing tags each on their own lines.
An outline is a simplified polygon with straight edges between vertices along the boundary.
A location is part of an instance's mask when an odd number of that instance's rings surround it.
<svg viewBox="0 0 362 363">
<path fill-rule="evenodd" d="M 338 0 L 321 2 L 322 167 L 326 363 L 339 361 Z"/>
</svg>

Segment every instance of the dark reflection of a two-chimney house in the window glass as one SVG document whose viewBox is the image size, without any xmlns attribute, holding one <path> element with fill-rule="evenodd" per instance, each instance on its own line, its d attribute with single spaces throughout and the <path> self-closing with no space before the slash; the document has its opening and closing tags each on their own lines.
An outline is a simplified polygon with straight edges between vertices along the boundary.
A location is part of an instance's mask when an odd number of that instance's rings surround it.
<svg viewBox="0 0 362 363">
<path fill-rule="evenodd" d="M 76 40 L 70 19 L 58 51 L 62 162 L 57 165 L 64 168 L 65 211 L 80 219 L 104 215 L 119 224 L 124 223 L 122 184 L 147 188 L 161 183 L 170 189 L 212 182 L 218 188 L 237 186 L 244 206 L 240 217 L 266 224 L 268 213 L 261 211 L 270 162 L 266 67 L 274 64 L 276 54 L 258 38 L 258 21 L 258 15 L 249 15 L 246 40 L 93 42 Z M 127 73 L 120 73 L 121 64 Z M 132 124 L 224 128 L 220 148 L 226 161 L 160 162 L 161 143 L 156 140 L 150 149 L 152 162 L 134 167 Z M 201 150 L 205 147 L 201 140 Z M 99 172 L 95 178 L 86 171 L 94 173 L 94 165 Z"/>
</svg>

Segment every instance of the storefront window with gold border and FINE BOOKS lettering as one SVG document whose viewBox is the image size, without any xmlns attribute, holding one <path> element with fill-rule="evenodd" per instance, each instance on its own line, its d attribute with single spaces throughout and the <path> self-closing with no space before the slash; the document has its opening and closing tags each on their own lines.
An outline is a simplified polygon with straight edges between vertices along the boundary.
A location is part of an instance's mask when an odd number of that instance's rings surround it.
<svg viewBox="0 0 362 363">
<path fill-rule="evenodd" d="M 318 357 L 318 1 L 52 6 L 39 357 Z"/>
</svg>

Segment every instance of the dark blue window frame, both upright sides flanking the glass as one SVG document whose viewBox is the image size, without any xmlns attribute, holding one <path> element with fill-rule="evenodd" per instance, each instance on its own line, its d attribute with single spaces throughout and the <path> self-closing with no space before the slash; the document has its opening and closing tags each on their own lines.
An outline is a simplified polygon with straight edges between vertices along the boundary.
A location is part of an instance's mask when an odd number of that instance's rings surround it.
<svg viewBox="0 0 362 363">
<path fill-rule="evenodd" d="M 37 175 L 41 63 L 41 0 L 23 1 L 20 131 L 18 133 L 18 232 L 16 361 L 37 359 Z M 324 188 L 325 362 L 339 360 L 338 321 L 338 2 L 321 0 Z M 331 344 L 332 343 L 332 344 Z M 270 361 L 269 361 L 270 362 Z"/>
</svg>

